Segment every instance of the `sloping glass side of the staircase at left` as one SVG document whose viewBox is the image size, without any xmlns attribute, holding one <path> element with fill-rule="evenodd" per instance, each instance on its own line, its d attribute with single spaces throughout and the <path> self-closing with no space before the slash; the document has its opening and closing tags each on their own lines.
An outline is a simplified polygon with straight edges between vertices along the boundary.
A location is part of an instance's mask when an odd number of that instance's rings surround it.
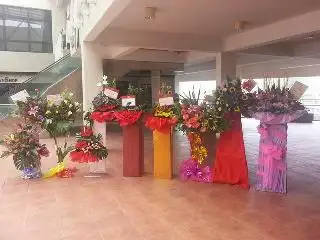
<svg viewBox="0 0 320 240">
<path fill-rule="evenodd" d="M 10 96 L 13 94 L 24 89 L 29 93 L 39 89 L 40 93 L 44 94 L 59 82 L 67 81 L 68 76 L 79 69 L 81 69 L 81 59 L 67 54 L 25 82 L 15 84 L 14 87 L 2 92 L 0 96 L 0 120 L 7 118 L 15 109 L 15 105 L 10 100 Z"/>
</svg>

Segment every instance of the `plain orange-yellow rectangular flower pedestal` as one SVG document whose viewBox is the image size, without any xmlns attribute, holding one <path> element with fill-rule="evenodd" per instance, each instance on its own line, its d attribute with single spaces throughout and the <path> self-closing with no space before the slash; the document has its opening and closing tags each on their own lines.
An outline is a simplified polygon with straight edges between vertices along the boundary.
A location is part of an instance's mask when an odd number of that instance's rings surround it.
<svg viewBox="0 0 320 240">
<path fill-rule="evenodd" d="M 153 174 L 155 177 L 163 179 L 172 178 L 172 131 L 153 131 Z"/>
</svg>

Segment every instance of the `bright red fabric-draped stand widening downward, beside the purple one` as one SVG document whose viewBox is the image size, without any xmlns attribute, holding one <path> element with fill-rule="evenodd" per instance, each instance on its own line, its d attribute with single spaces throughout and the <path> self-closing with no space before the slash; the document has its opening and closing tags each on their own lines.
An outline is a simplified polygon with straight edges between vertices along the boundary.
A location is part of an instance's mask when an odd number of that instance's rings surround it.
<svg viewBox="0 0 320 240">
<path fill-rule="evenodd" d="M 243 142 L 240 112 L 226 114 L 231 121 L 229 130 L 223 132 L 217 143 L 213 166 L 213 182 L 240 185 L 249 188 L 248 166 Z"/>
</svg>

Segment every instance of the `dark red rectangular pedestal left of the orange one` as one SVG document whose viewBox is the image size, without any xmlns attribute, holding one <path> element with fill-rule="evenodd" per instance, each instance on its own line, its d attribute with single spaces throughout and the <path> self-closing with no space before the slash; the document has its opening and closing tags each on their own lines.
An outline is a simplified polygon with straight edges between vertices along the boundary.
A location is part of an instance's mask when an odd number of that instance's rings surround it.
<svg viewBox="0 0 320 240">
<path fill-rule="evenodd" d="M 140 121 L 123 127 L 123 176 L 141 177 L 144 172 L 144 136 Z"/>
</svg>

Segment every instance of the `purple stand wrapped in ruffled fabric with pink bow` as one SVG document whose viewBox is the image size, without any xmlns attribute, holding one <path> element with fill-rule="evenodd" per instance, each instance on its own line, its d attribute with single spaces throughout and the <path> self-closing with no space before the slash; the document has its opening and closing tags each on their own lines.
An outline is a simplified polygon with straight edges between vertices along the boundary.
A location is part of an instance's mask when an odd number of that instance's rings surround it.
<svg viewBox="0 0 320 240">
<path fill-rule="evenodd" d="M 287 192 L 287 124 L 303 114 L 305 111 L 277 115 L 267 112 L 253 114 L 255 119 L 260 120 L 256 190 Z"/>
</svg>

